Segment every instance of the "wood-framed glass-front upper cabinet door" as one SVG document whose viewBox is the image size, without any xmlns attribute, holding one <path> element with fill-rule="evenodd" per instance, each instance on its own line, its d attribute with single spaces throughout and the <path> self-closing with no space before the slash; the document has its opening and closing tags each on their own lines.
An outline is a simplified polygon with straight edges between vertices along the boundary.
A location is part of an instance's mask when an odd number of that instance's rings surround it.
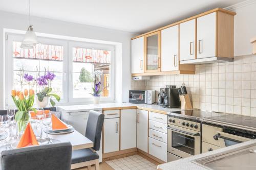
<svg viewBox="0 0 256 170">
<path fill-rule="evenodd" d="M 144 36 L 144 72 L 161 71 L 161 31 Z"/>
</svg>

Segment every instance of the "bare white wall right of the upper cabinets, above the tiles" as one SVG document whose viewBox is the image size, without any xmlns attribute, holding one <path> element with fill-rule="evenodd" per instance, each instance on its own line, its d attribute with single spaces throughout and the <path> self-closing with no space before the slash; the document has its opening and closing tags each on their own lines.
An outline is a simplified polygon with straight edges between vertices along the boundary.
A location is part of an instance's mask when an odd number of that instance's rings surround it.
<svg viewBox="0 0 256 170">
<path fill-rule="evenodd" d="M 225 8 L 236 12 L 234 16 L 234 56 L 252 53 L 250 39 L 256 36 L 256 0 L 249 0 Z"/>
</svg>

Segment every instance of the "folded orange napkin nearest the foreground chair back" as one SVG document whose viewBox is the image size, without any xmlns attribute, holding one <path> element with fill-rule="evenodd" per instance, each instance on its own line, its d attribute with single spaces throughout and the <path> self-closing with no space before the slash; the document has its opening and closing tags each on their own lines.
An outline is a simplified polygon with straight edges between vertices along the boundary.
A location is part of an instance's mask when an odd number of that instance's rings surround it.
<svg viewBox="0 0 256 170">
<path fill-rule="evenodd" d="M 22 138 L 20 138 L 17 148 L 27 147 L 28 145 L 38 145 L 35 134 L 30 123 L 27 125 Z"/>
</svg>

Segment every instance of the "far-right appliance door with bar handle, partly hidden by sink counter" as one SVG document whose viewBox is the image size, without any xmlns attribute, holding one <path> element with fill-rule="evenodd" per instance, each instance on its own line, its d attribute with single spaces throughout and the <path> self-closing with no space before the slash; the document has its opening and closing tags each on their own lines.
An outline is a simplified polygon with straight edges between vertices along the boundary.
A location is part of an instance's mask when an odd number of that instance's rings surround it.
<svg viewBox="0 0 256 170">
<path fill-rule="evenodd" d="M 245 138 L 237 135 L 232 135 L 225 132 L 219 132 L 217 131 L 217 140 L 219 140 L 220 147 L 225 148 L 229 147 L 233 144 L 242 143 L 248 140 L 251 140 L 250 138 Z"/>
</svg>

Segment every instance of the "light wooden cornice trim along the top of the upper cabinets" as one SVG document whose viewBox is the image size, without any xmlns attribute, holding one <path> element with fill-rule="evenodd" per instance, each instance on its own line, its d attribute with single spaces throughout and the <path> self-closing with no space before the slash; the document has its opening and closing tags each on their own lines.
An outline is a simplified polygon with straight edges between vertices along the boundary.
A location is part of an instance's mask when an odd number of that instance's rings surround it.
<svg viewBox="0 0 256 170">
<path fill-rule="evenodd" d="M 237 14 L 236 12 L 228 11 L 228 10 L 225 10 L 225 9 L 222 9 L 222 8 L 215 8 L 215 9 L 212 9 L 212 10 L 209 10 L 209 11 L 206 11 L 206 12 L 203 12 L 203 13 L 201 13 L 201 14 L 198 14 L 198 15 L 191 16 L 191 17 L 189 17 L 189 18 L 180 20 L 180 21 L 178 21 L 178 22 L 171 23 L 170 25 L 161 27 L 161 28 L 159 28 L 159 29 L 156 29 L 156 30 L 153 30 L 153 31 L 150 31 L 150 32 L 141 34 L 141 35 L 138 35 L 138 36 L 133 37 L 133 38 L 131 38 L 131 39 L 136 39 L 136 38 L 145 36 L 145 35 L 147 35 L 147 34 L 151 34 L 151 33 L 154 33 L 154 32 L 157 32 L 157 31 L 160 31 L 160 30 L 163 30 L 163 29 L 172 27 L 172 26 L 176 26 L 176 25 L 178 25 L 178 24 L 180 24 L 180 23 L 182 23 L 182 22 L 185 22 L 185 21 L 188 21 L 188 20 L 191 20 L 191 19 L 195 19 L 195 18 L 198 18 L 198 17 L 200 17 L 200 16 L 204 16 L 204 15 L 210 14 L 210 13 L 212 13 L 212 12 L 217 12 L 217 11 L 220 11 L 220 12 L 223 12 L 223 13 L 226 13 L 226 14 L 229 14 L 229 15 L 236 15 L 236 14 Z"/>
</svg>

